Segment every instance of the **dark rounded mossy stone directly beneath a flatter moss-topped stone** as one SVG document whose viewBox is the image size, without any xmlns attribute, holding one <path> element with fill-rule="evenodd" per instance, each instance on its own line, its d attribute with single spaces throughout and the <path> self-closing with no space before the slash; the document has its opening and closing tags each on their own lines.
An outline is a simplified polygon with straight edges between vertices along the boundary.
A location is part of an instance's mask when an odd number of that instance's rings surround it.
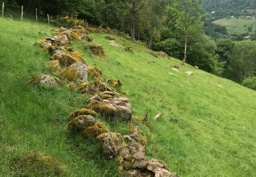
<svg viewBox="0 0 256 177">
<path fill-rule="evenodd" d="M 78 116 L 68 123 L 70 129 L 74 131 L 82 131 L 87 127 L 92 127 L 95 124 L 95 118 L 90 115 Z"/>
</svg>

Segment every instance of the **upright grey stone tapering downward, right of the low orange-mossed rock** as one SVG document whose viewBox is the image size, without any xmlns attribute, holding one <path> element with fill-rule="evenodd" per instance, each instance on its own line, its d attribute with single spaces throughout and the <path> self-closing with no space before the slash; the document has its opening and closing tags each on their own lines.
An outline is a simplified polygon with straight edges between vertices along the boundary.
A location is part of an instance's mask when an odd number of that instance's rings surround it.
<svg viewBox="0 0 256 177">
<path fill-rule="evenodd" d="M 98 136 L 103 154 L 109 159 L 117 157 L 119 150 L 124 144 L 124 139 L 119 133 L 102 133 Z"/>
</svg>

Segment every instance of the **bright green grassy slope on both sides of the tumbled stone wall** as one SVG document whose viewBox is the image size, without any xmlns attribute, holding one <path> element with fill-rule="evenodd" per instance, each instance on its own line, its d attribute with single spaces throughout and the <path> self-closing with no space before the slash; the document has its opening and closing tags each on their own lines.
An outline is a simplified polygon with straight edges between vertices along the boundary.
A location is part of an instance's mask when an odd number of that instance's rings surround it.
<svg viewBox="0 0 256 177">
<path fill-rule="evenodd" d="M 28 150 L 46 152 L 66 165 L 64 176 L 118 176 L 117 161 L 103 159 L 96 142 L 68 133 L 69 113 L 83 108 L 87 96 L 66 87 L 28 83 L 29 76 L 51 74 L 45 66 L 48 54 L 34 45 L 51 36 L 51 28 L 0 19 L 2 176 L 31 173 L 25 165 L 13 165 Z M 150 138 L 149 157 L 164 160 L 181 176 L 255 176 L 255 91 L 189 65 L 173 71 L 177 59 L 154 58 L 146 48 L 120 37 L 118 46 L 111 46 L 104 34 L 91 35 L 106 57 L 91 56 L 87 42 L 72 44 L 105 78 L 122 81 L 134 115 L 149 112 L 153 129 L 143 127 Z M 134 54 L 124 52 L 124 46 L 131 46 Z M 186 76 L 186 71 L 195 76 Z M 153 120 L 158 112 L 162 118 Z M 126 125 L 115 123 L 109 129 L 124 133 Z"/>
</svg>

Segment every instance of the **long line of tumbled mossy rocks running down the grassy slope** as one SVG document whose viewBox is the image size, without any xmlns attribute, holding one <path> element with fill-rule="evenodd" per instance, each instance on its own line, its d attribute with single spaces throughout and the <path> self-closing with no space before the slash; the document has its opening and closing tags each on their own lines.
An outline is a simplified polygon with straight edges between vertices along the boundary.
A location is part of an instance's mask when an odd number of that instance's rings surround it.
<svg viewBox="0 0 256 177">
<path fill-rule="evenodd" d="M 130 135 L 121 135 L 109 131 L 104 123 L 97 120 L 100 114 L 106 120 L 115 118 L 130 122 L 132 110 L 128 98 L 120 96 L 115 91 L 115 88 L 122 86 L 122 82 L 116 79 L 105 80 L 100 69 L 89 67 L 83 60 L 83 54 L 68 46 L 72 39 L 88 40 L 85 29 L 61 27 L 54 32 L 57 36 L 38 42 L 51 54 L 49 62 L 51 70 L 61 74 L 61 78 L 65 79 L 73 90 L 90 95 L 84 108 L 70 114 L 68 118 L 70 131 L 80 133 L 85 138 L 98 140 L 104 156 L 108 159 L 117 157 L 119 172 L 124 172 L 126 176 L 177 176 L 169 172 L 169 167 L 164 162 L 157 159 L 147 160 L 145 155 L 147 138 L 139 127 L 130 127 Z M 91 46 L 93 45 L 89 48 Z M 96 45 L 93 53 L 104 54 L 101 49 L 102 46 Z M 60 71 L 61 68 L 63 69 Z M 88 82 L 88 77 L 93 78 L 94 81 Z M 40 82 L 55 86 L 59 85 L 60 80 L 53 76 L 41 75 Z"/>
</svg>

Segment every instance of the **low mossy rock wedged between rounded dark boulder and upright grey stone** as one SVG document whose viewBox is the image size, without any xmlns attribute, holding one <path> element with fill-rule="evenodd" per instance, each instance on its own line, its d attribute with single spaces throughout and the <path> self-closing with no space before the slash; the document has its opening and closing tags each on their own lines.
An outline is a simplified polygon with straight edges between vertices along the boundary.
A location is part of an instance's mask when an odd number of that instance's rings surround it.
<svg viewBox="0 0 256 177">
<path fill-rule="evenodd" d="M 108 129 L 106 128 L 106 125 L 100 122 L 96 122 L 94 126 L 92 127 L 87 127 L 85 130 L 82 131 L 82 135 L 85 138 L 92 137 L 92 138 L 97 138 L 98 135 L 102 133 L 107 133 L 109 132 Z"/>
</svg>

